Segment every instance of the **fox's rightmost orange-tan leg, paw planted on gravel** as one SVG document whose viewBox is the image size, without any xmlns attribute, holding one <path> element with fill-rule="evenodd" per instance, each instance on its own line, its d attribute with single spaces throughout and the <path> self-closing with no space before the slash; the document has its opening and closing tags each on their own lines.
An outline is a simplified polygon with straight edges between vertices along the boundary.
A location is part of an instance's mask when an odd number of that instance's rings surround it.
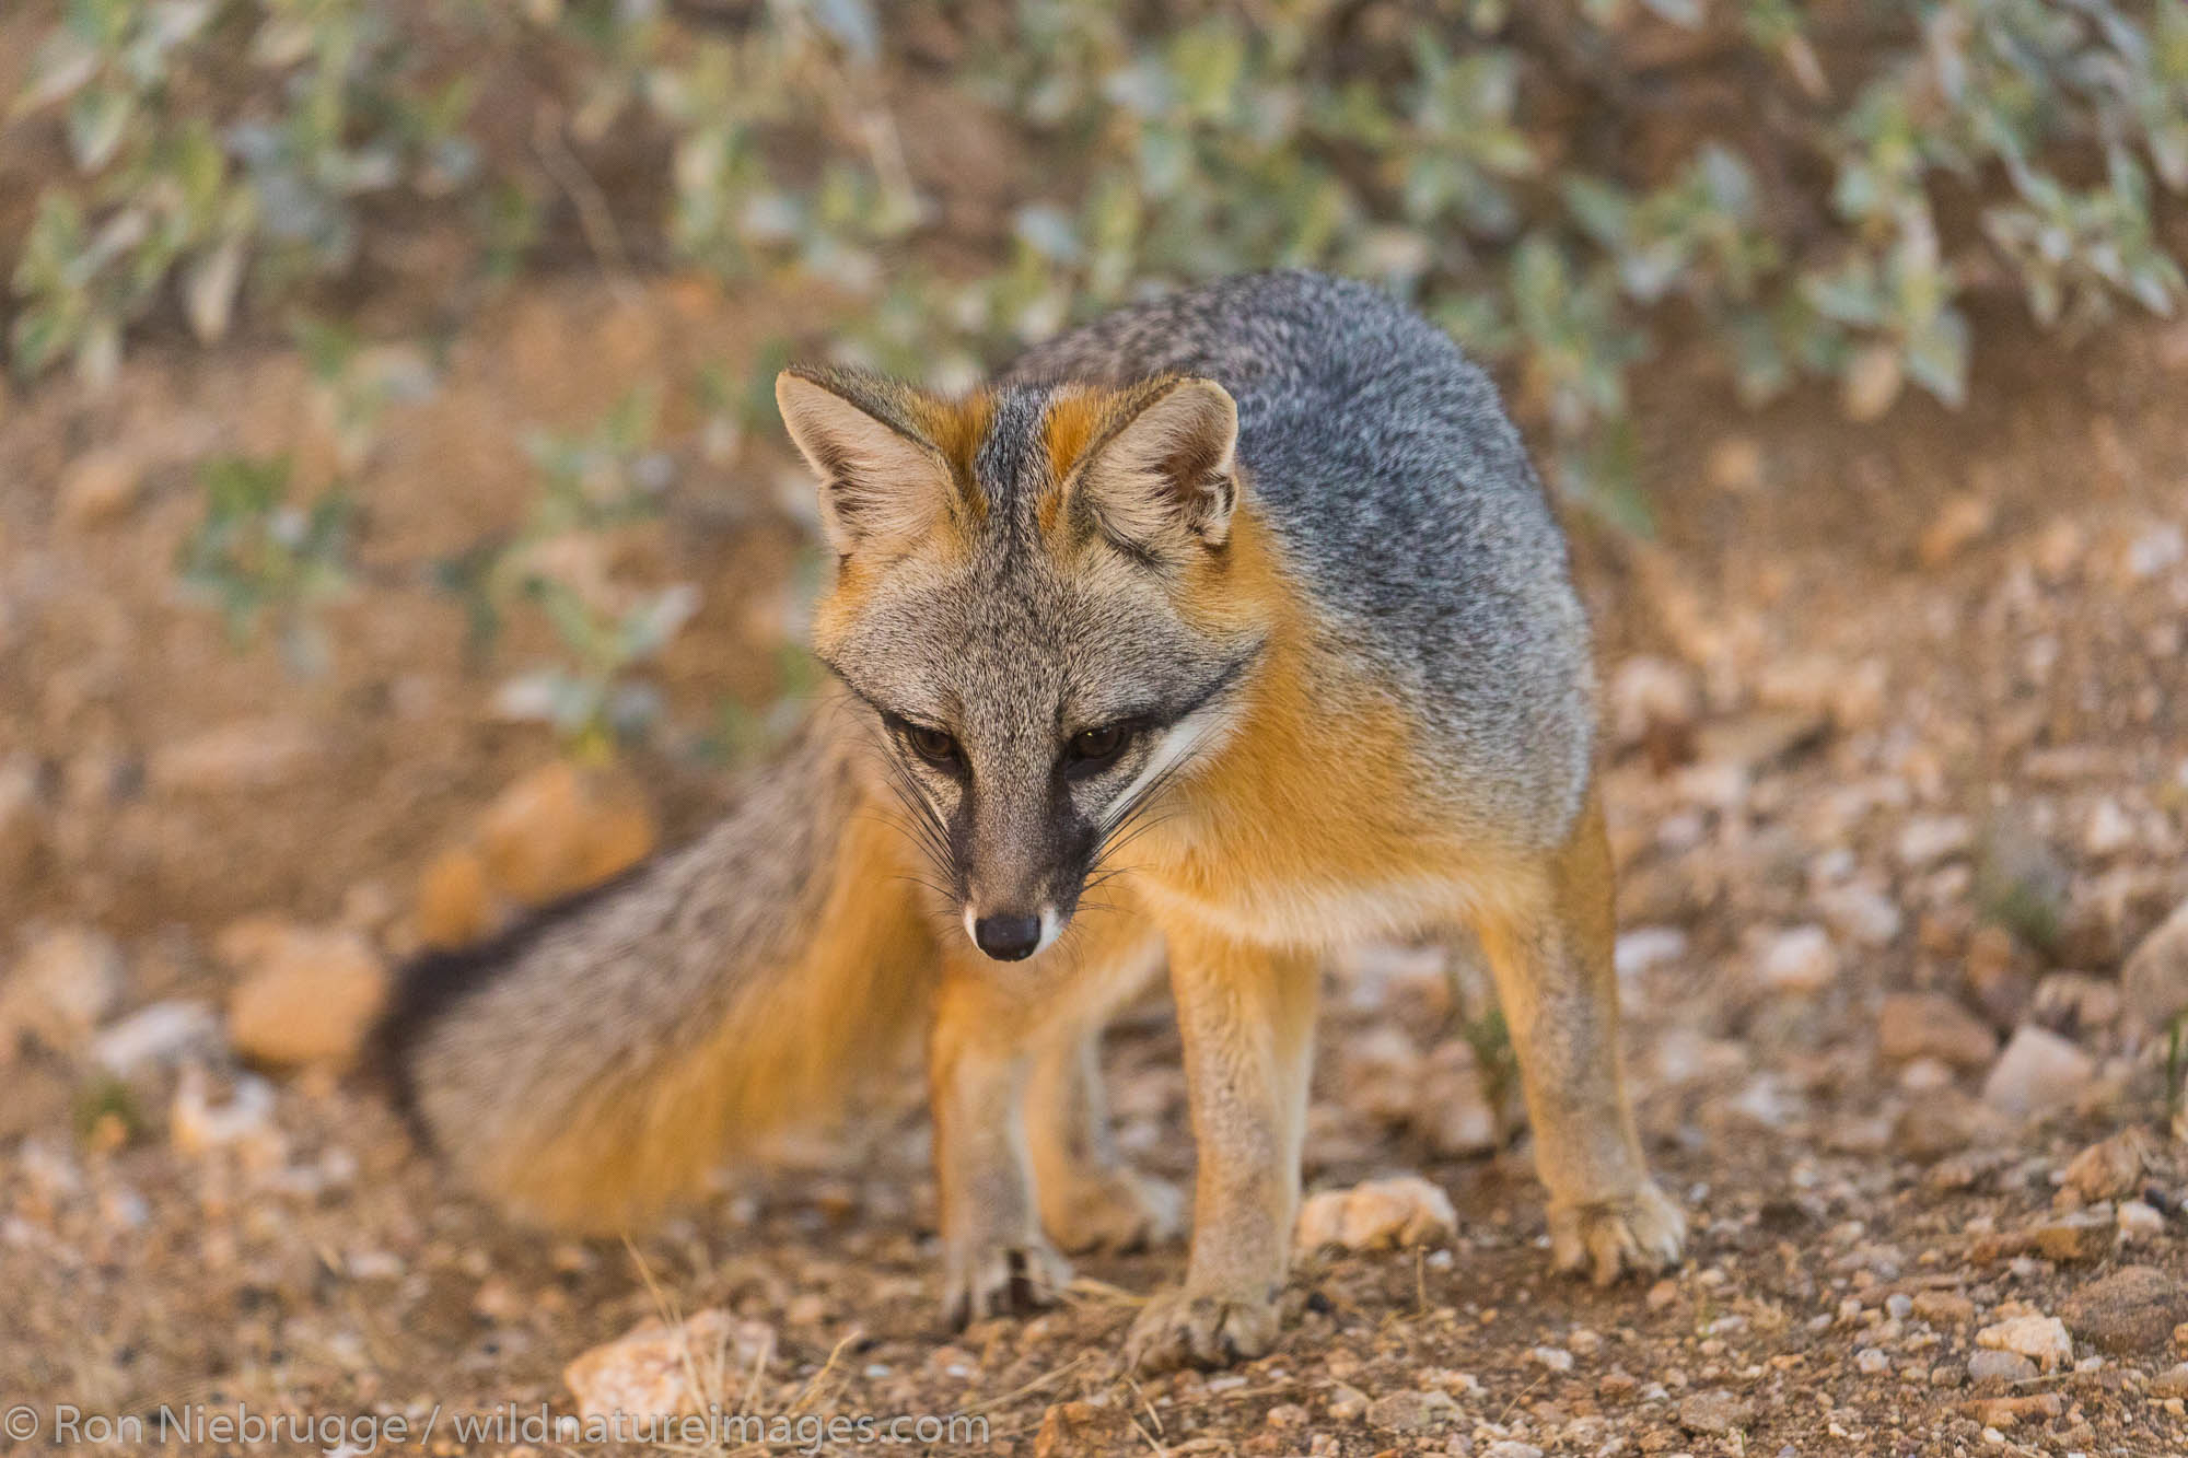
<svg viewBox="0 0 2188 1458">
<path fill-rule="evenodd" d="M 1560 1270 L 1608 1285 L 1678 1263 L 1687 1217 L 1650 1180 L 1619 1064 L 1613 869 L 1591 795 L 1567 845 L 1475 930 L 1512 1033 Z"/>
</svg>

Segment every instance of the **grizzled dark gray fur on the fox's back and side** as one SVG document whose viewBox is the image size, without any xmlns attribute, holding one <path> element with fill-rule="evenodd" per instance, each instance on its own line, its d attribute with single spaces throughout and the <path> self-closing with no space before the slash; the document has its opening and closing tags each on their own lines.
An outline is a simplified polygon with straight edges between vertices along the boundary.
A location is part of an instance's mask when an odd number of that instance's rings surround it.
<svg viewBox="0 0 2188 1458">
<path fill-rule="evenodd" d="M 1249 501 L 1339 646 L 1394 685 L 1429 755 L 1466 782 L 1464 803 L 1508 830 L 1562 832 L 1595 738 L 1588 628 L 1488 374 L 1387 293 L 1282 271 L 1109 313 L 1035 346 L 1002 383 L 1160 372 L 1238 401 Z"/>
</svg>

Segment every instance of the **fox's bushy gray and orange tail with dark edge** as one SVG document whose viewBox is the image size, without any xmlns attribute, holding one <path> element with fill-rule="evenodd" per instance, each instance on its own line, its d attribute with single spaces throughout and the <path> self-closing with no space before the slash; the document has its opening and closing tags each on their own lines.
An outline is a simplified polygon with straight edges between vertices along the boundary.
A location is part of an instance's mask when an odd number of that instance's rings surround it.
<svg viewBox="0 0 2188 1458">
<path fill-rule="evenodd" d="M 934 963 L 899 832 L 862 803 L 814 729 L 698 843 L 416 963 L 385 1049 L 433 1145 L 525 1219 L 619 1230 L 831 1112 Z"/>
</svg>

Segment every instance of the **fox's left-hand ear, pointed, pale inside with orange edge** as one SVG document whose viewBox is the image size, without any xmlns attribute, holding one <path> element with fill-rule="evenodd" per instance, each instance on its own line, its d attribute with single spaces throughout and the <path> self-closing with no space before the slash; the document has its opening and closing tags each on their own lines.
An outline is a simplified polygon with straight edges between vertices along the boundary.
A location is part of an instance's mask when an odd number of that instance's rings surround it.
<svg viewBox="0 0 2188 1458">
<path fill-rule="evenodd" d="M 821 477 L 821 530 L 838 556 L 919 541 L 950 512 L 950 462 L 915 431 L 908 405 L 908 387 L 877 374 L 775 377 L 775 407 Z"/>
</svg>

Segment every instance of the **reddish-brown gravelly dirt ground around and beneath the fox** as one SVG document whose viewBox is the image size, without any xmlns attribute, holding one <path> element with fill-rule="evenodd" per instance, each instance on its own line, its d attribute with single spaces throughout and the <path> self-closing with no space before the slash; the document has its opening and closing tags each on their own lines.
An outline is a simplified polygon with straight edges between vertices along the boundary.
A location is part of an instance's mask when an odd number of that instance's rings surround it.
<svg viewBox="0 0 2188 1458">
<path fill-rule="evenodd" d="M 591 420 L 635 374 L 676 381 L 781 326 L 680 282 L 492 306 L 440 392 L 389 416 L 363 490 L 374 571 L 333 613 L 324 679 L 232 650 L 171 571 L 197 455 L 291 451 L 324 479 L 291 359 L 147 350 L 114 398 L 57 383 L 4 407 L 0 959 L 26 976 L 28 948 L 79 928 L 118 952 L 85 1040 L 0 1051 L 0 1405 L 39 1414 L 13 1451 L 70 1447 L 57 1403 L 414 1434 L 435 1410 L 571 1412 L 573 1357 L 702 1309 L 772 1338 L 750 1366 L 702 1364 L 729 1410 L 985 1421 L 917 1451 L 2188 1451 L 2168 1377 L 2188 1357 L 2188 1158 L 2116 983 L 2188 898 L 2181 326 L 2070 346 L 1985 320 L 1967 412 L 1871 427 L 1814 396 L 1744 414 L 1683 357 L 1650 372 L 1661 534 L 1584 534 L 1580 556 L 1630 1068 L 1694 1222 L 1654 1285 L 1549 1276 L 1525 1136 L 1459 1158 L 1435 1110 L 1405 1106 L 1448 983 L 1389 948 L 1330 972 L 1306 1178 L 1418 1171 L 1457 1228 L 1308 1259 L 1278 1349 L 1212 1375 L 1114 1373 L 1177 1248 L 1083 1261 L 1041 1318 L 939 1329 L 910 1071 L 856 1130 L 724 1176 L 630 1243 L 499 1222 L 368 1079 L 284 1077 L 256 1106 L 267 1086 L 217 1018 L 173 1066 L 103 1079 L 90 1049 L 138 1009 L 225 1005 L 217 944 L 238 917 L 407 952 L 424 863 L 554 757 L 494 716 L 494 674 L 416 565 L 514 519 L 523 427 Z M 83 484 L 98 453 L 129 464 L 120 499 Z M 705 589 L 663 663 L 674 729 L 635 764 L 672 841 L 726 792 L 698 727 L 724 694 L 781 687 L 805 541 L 785 490 L 683 460 L 665 521 L 615 547 Z M 519 637 L 501 666 L 536 650 Z M 2000 1057 L 2009 1035 L 2046 1057 Z M 1127 1020 L 1109 1060 L 1125 1147 L 1186 1180 L 1166 1009 Z M 2111 1165 L 2061 1184 L 2105 1138 Z M 2052 1316 L 2068 1351 L 2041 1370 L 1982 1355 L 1978 1333 L 2015 1344 L 1995 1331 Z M 591 1445 L 462 1443 L 444 1419 L 422 1447 Z"/>
</svg>

